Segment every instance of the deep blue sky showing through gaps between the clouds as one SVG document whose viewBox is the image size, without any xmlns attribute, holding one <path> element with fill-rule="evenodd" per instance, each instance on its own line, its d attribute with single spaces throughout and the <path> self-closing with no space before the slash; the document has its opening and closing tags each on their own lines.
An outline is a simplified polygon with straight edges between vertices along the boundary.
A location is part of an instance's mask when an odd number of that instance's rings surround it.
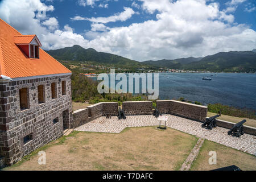
<svg viewBox="0 0 256 182">
<path fill-rule="evenodd" d="M 218 2 L 220 5 L 220 10 L 225 10 L 228 5 L 227 2 L 230 0 L 218 0 L 214 2 Z M 131 1 L 131 0 L 119 0 L 119 1 L 96 1 L 93 6 L 85 5 L 80 6 L 79 1 L 73 0 L 63 0 L 63 1 L 46 1 L 46 5 L 53 5 L 55 7 L 55 11 L 51 11 L 47 14 L 49 16 L 57 17 L 59 20 L 60 26 L 64 27 L 65 24 L 69 24 L 72 28 L 75 28 L 75 32 L 82 34 L 84 31 L 90 30 L 90 22 L 89 21 L 73 21 L 70 18 L 74 16 L 83 16 L 86 18 L 91 17 L 108 17 L 114 14 L 118 14 L 123 11 L 123 7 L 131 7 L 134 11 L 137 11 L 139 14 L 134 14 L 130 19 L 127 19 L 124 22 L 110 22 L 105 25 L 113 28 L 113 27 L 121 27 L 121 26 L 129 26 L 131 23 L 142 23 L 149 19 L 156 19 L 156 14 L 148 14 L 145 13 L 141 8 L 137 8 L 132 6 L 135 2 L 137 5 L 141 6 L 142 2 L 139 1 Z M 86 1 L 85 1 L 86 2 Z M 160 3 L 160 0 L 159 0 Z M 207 4 L 212 3 L 212 1 L 208 1 Z M 251 8 L 255 7 L 254 11 L 246 11 L 246 7 L 251 3 Z M 108 8 L 99 7 L 100 5 L 108 5 Z M 236 11 L 234 11 L 234 23 L 238 24 L 247 24 L 254 31 L 256 31 L 256 1 L 248 0 L 242 3 L 238 3 L 236 5 Z M 251 9 L 250 8 L 250 9 Z"/>
</svg>

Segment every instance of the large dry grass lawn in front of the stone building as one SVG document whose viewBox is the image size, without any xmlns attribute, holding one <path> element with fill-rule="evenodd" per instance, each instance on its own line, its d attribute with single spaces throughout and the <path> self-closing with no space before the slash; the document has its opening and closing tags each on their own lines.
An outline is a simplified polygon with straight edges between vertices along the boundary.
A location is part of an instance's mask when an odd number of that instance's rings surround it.
<svg viewBox="0 0 256 182">
<path fill-rule="evenodd" d="M 178 170 L 196 137 L 155 127 L 128 128 L 120 134 L 73 131 L 4 170 Z M 38 164 L 38 151 L 46 165 Z"/>
</svg>

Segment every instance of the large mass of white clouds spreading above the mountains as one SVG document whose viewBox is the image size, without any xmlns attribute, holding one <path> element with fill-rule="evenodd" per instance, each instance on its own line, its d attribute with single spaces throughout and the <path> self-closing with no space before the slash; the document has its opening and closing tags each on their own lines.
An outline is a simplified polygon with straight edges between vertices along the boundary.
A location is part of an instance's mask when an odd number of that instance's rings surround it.
<svg viewBox="0 0 256 182">
<path fill-rule="evenodd" d="M 126 20 L 132 11 L 122 16 L 119 13 L 114 17 L 90 18 L 91 30 L 85 32 L 86 38 L 76 34 L 67 24 L 57 28 L 56 18 L 37 18 L 36 12 L 42 7 L 46 11 L 54 10 L 39 0 L 3 1 L 0 17 L 23 34 L 38 35 L 44 49 L 79 44 L 138 61 L 198 57 L 255 48 L 256 32 L 245 24 L 232 23 L 234 16 L 221 11 L 218 3 L 206 5 L 204 0 L 141 2 L 147 13 L 157 12 L 154 20 L 109 28 L 104 23 Z"/>
</svg>

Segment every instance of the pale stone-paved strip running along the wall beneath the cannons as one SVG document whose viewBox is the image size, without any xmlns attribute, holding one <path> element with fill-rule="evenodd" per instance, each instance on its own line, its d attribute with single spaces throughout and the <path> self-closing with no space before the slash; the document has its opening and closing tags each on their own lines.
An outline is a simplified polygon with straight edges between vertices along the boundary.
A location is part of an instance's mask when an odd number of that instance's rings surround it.
<svg viewBox="0 0 256 182">
<path fill-rule="evenodd" d="M 166 125 L 172 129 L 224 144 L 225 146 L 236 148 L 237 150 L 241 150 L 256 156 L 256 136 L 254 135 L 244 134 L 241 136 L 241 138 L 232 137 L 228 135 L 229 130 L 222 127 L 207 130 L 201 127 L 202 123 L 200 122 L 177 117 L 175 115 L 167 114 L 167 116 L 168 121 L 166 122 Z M 100 117 L 92 122 L 77 127 L 75 130 L 101 133 L 120 133 L 126 127 L 158 125 L 159 121 L 153 115 L 128 115 L 126 116 L 125 120 L 118 120 L 117 117 L 112 117 L 111 119 Z M 162 122 L 162 125 L 164 125 L 164 122 Z"/>
</svg>

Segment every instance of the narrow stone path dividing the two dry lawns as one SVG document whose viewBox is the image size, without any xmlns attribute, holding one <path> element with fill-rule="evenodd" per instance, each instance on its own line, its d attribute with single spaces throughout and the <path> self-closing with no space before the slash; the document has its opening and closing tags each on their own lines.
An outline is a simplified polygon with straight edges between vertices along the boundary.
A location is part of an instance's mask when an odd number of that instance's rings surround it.
<svg viewBox="0 0 256 182">
<path fill-rule="evenodd" d="M 196 159 L 197 155 L 199 154 L 200 148 L 202 147 L 203 143 L 204 143 L 204 138 L 199 138 L 197 140 L 195 147 L 192 149 L 187 159 L 182 164 L 180 171 L 188 171 L 191 168 L 191 165 L 193 161 Z"/>
</svg>

